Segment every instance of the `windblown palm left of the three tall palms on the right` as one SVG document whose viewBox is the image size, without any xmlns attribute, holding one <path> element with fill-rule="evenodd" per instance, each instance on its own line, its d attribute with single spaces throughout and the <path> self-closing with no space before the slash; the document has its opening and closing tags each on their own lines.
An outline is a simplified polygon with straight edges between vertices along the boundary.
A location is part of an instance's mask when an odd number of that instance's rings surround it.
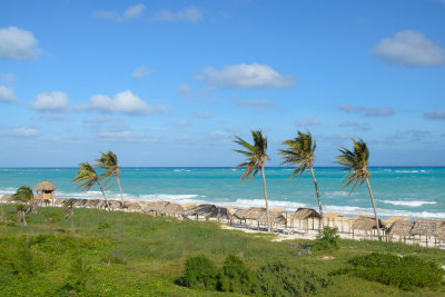
<svg viewBox="0 0 445 297">
<path fill-rule="evenodd" d="M 235 143 L 240 145 L 245 150 L 234 149 L 234 151 L 239 152 L 247 157 L 243 164 L 236 166 L 235 168 L 246 167 L 246 171 L 244 171 L 241 176 L 241 182 L 245 181 L 249 176 L 250 178 L 247 182 L 250 182 L 259 171 L 261 171 L 263 176 L 263 190 L 266 200 L 266 218 L 267 218 L 267 230 L 270 231 L 270 218 L 269 218 L 269 202 L 267 200 L 267 190 L 266 190 L 266 178 L 264 172 L 264 167 L 266 160 L 270 160 L 269 156 L 267 156 L 267 138 L 263 136 L 261 130 L 251 130 L 251 137 L 254 138 L 254 145 L 250 145 L 246 140 L 235 137 Z"/>
</svg>

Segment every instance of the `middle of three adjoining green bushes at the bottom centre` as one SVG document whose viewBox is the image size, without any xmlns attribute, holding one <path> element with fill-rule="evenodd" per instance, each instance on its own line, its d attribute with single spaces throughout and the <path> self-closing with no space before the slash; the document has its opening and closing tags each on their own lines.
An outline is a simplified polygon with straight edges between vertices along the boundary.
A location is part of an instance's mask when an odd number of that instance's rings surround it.
<svg viewBox="0 0 445 297">
<path fill-rule="evenodd" d="M 218 289 L 249 294 L 255 283 L 255 275 L 245 266 L 244 261 L 235 256 L 227 256 L 222 271 L 218 278 Z"/>
</svg>

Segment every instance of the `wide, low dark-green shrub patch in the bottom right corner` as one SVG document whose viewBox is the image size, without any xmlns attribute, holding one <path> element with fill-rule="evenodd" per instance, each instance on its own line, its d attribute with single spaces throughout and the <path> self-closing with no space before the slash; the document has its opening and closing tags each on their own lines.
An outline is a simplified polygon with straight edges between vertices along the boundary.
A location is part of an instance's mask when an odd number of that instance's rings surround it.
<svg viewBox="0 0 445 297">
<path fill-rule="evenodd" d="M 404 290 L 415 287 L 436 287 L 442 284 L 445 270 L 436 263 L 417 256 L 398 257 L 373 253 L 350 260 L 352 273 L 367 280 L 397 286 Z"/>
</svg>

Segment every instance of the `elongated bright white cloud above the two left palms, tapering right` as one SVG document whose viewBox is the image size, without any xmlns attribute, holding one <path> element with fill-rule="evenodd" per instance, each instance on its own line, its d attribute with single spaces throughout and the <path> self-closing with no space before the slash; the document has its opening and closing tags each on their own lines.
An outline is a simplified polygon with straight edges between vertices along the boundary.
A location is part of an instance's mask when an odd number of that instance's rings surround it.
<svg viewBox="0 0 445 297">
<path fill-rule="evenodd" d="M 92 96 L 90 98 L 89 108 L 102 112 L 118 112 L 136 116 L 174 111 L 172 108 L 161 105 L 149 106 L 129 90 L 118 92 L 112 98 L 106 95 Z"/>
</svg>

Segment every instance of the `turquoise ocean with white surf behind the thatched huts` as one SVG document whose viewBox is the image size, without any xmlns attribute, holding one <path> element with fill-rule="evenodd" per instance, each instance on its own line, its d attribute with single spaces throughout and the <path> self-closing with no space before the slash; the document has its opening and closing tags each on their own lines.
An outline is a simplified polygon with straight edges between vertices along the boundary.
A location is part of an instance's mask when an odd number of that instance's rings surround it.
<svg viewBox="0 0 445 297">
<path fill-rule="evenodd" d="M 316 207 L 310 174 L 288 182 L 293 169 L 266 168 L 267 192 L 273 208 L 289 211 Z M 101 197 L 98 188 L 81 192 L 72 184 L 78 168 L 0 168 L 0 195 L 13 194 L 20 186 L 33 188 L 42 180 L 56 185 L 56 197 Z M 125 199 L 209 202 L 220 206 L 264 206 L 263 182 L 257 177 L 239 184 L 243 169 L 233 168 L 121 168 Z M 350 196 L 340 190 L 345 171 L 340 168 L 316 168 L 325 211 L 346 216 L 372 214 L 366 184 Z M 370 185 L 382 217 L 445 219 L 445 168 L 375 167 Z M 108 198 L 120 198 L 117 184 L 107 189 Z"/>
</svg>

